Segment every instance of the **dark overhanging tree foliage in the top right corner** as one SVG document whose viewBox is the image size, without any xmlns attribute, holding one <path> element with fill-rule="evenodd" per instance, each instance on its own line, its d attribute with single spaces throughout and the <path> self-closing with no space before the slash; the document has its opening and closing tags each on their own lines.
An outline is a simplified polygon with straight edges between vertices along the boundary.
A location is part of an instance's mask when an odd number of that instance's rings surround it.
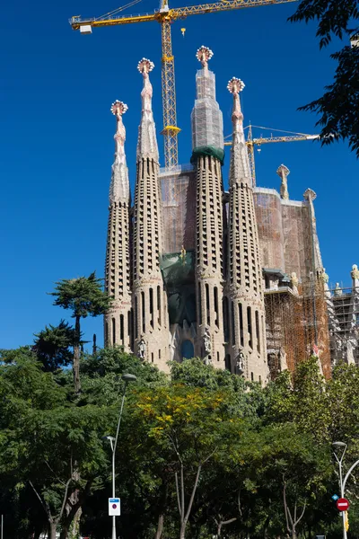
<svg viewBox="0 0 359 539">
<path fill-rule="evenodd" d="M 349 40 L 359 31 L 357 0 L 302 0 L 291 22 L 318 21 L 317 37 L 320 48 L 327 47 L 333 37 Z M 347 139 L 349 146 L 359 155 L 359 47 L 346 45 L 332 54 L 337 62 L 333 84 L 319 99 L 301 107 L 320 115 L 322 144 L 331 144 L 338 138 Z"/>
</svg>

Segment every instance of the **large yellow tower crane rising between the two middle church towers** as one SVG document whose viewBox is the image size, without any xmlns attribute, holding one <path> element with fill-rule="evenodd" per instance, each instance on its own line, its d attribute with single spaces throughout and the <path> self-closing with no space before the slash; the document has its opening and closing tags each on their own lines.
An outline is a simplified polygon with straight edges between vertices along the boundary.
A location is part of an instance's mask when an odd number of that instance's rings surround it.
<svg viewBox="0 0 359 539">
<path fill-rule="evenodd" d="M 171 22 L 185 19 L 188 15 L 202 15 L 204 13 L 217 13 L 241 9 L 244 7 L 256 7 L 258 5 L 286 4 L 296 0 L 223 0 L 214 4 L 188 5 L 186 7 L 170 8 L 168 0 L 161 0 L 160 9 L 153 13 L 138 15 L 118 16 L 123 9 L 137 4 L 140 0 L 133 0 L 113 12 L 106 13 L 98 18 L 83 19 L 74 16 L 70 19 L 73 30 L 79 30 L 83 34 L 92 33 L 92 28 L 100 26 L 114 26 L 117 24 L 133 24 L 135 22 L 159 22 L 162 33 L 162 109 L 164 135 L 164 161 L 169 169 L 179 163 L 178 134 L 176 116 L 176 88 L 174 76 L 174 57 L 172 53 Z"/>
</svg>

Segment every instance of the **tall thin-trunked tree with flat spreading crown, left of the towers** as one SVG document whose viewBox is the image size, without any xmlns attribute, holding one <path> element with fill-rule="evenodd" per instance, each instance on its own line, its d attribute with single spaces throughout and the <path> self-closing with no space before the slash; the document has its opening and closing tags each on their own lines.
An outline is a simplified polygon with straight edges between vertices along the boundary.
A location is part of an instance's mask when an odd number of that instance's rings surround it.
<svg viewBox="0 0 359 539">
<path fill-rule="evenodd" d="M 56 283 L 54 305 L 70 309 L 74 318 L 74 391 L 80 393 L 80 350 L 81 328 L 80 321 L 87 316 L 105 314 L 111 305 L 111 298 L 101 287 L 101 278 L 96 278 L 95 272 L 89 277 L 63 279 Z"/>
</svg>

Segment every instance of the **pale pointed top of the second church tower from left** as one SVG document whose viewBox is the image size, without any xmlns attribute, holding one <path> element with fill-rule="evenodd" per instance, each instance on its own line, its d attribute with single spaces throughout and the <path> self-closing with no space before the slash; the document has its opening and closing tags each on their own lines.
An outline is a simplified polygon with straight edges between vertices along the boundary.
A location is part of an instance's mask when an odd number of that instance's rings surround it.
<svg viewBox="0 0 359 539">
<path fill-rule="evenodd" d="M 141 92 L 142 116 L 141 124 L 138 128 L 137 160 L 148 157 L 158 162 L 159 154 L 152 110 L 153 87 L 149 76 L 153 67 L 153 62 L 147 58 L 142 58 L 137 66 L 138 71 L 144 78 L 144 87 Z"/>
</svg>

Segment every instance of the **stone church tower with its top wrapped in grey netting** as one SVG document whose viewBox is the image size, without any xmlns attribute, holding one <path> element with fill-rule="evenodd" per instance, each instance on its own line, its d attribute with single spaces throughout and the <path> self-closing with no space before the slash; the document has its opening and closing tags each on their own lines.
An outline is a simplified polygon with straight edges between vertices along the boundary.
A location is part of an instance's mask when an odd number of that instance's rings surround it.
<svg viewBox="0 0 359 539">
<path fill-rule="evenodd" d="M 208 69 L 213 52 L 197 50 L 197 99 L 192 110 L 192 150 L 196 158 L 196 304 L 195 353 L 224 367 L 223 335 L 223 117 L 215 101 L 215 74 Z"/>
</svg>

